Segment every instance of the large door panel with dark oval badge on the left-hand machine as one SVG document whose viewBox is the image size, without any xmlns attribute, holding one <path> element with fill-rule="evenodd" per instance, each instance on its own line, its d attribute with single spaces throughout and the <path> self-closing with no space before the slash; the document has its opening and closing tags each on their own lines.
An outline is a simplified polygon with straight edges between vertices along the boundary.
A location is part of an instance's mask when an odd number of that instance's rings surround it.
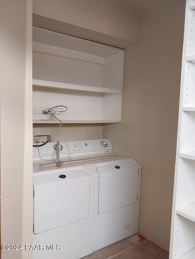
<svg viewBox="0 0 195 259">
<path fill-rule="evenodd" d="M 34 233 L 89 217 L 90 176 L 82 168 L 34 176 Z"/>
</svg>

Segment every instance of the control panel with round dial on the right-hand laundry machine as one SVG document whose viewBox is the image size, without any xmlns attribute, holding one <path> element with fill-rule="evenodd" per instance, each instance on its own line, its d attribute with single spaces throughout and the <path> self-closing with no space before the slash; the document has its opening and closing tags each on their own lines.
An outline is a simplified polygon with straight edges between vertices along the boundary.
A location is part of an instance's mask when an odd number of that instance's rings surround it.
<svg viewBox="0 0 195 259">
<path fill-rule="evenodd" d="M 67 141 L 66 144 L 69 149 L 69 155 L 88 155 L 112 152 L 112 145 L 107 138 Z"/>
</svg>

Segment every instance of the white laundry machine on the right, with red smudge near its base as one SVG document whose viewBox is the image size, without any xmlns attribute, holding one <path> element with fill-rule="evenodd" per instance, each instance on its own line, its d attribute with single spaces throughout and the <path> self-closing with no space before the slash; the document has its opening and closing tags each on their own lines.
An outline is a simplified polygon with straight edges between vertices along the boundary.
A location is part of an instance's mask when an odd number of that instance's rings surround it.
<svg viewBox="0 0 195 259">
<path fill-rule="evenodd" d="M 141 166 L 131 157 L 113 153 L 108 139 L 66 143 L 69 156 L 89 151 L 96 154 L 93 157 L 118 155 L 86 162 L 95 175 L 93 251 L 137 233 Z"/>
</svg>

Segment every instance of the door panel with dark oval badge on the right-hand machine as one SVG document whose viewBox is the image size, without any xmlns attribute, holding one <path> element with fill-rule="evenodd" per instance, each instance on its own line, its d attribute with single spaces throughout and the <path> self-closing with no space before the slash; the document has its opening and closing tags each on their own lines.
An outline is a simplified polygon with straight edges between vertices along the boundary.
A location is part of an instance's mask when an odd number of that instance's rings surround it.
<svg viewBox="0 0 195 259">
<path fill-rule="evenodd" d="M 97 167 L 99 207 L 102 214 L 137 202 L 138 167 L 130 160 Z"/>
</svg>

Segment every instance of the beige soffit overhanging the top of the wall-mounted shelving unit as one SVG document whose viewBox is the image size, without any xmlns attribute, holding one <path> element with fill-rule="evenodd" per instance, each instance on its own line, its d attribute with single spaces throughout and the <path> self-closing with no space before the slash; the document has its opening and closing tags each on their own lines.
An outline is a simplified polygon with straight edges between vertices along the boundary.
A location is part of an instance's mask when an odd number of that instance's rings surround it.
<svg viewBox="0 0 195 259">
<path fill-rule="evenodd" d="M 67 32 L 62 23 L 56 23 L 55 31 L 111 46 L 131 46 L 140 40 L 141 17 L 121 0 L 33 0 L 33 13 L 66 23 Z M 48 23 L 43 22 L 45 29 Z"/>
</svg>

